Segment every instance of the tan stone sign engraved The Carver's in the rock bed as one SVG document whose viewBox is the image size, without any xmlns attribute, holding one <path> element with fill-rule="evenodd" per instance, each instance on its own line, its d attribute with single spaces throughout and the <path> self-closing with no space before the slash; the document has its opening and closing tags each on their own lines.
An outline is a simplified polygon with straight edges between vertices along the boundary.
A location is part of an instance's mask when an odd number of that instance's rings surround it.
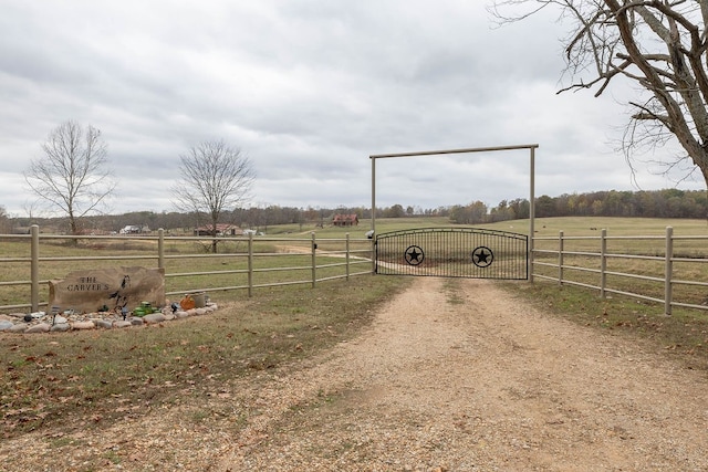
<svg viewBox="0 0 708 472">
<path fill-rule="evenodd" d="M 145 268 L 93 269 L 70 273 L 49 283 L 50 306 L 93 313 L 132 311 L 142 302 L 165 304 L 165 270 Z"/>
</svg>

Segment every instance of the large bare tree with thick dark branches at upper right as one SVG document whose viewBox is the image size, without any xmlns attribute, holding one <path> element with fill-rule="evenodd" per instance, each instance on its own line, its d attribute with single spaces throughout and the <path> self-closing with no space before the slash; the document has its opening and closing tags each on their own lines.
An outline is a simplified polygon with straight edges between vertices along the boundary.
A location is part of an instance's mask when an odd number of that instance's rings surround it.
<svg viewBox="0 0 708 472">
<path fill-rule="evenodd" d="M 572 24 L 564 42 L 571 85 L 560 92 L 594 88 L 600 96 L 613 80 L 627 78 L 638 90 L 627 99 L 627 161 L 675 140 L 685 154 L 663 162 L 667 171 L 688 165 L 708 185 L 708 1 L 497 0 L 490 11 L 508 23 L 554 8 Z"/>
</svg>

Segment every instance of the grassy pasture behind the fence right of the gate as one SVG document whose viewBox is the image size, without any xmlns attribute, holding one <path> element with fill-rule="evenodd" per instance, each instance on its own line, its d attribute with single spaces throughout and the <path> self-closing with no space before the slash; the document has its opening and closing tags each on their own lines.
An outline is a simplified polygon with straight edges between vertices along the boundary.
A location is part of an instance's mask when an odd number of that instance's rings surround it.
<svg viewBox="0 0 708 472">
<path fill-rule="evenodd" d="M 606 230 L 606 286 L 621 292 L 638 293 L 652 298 L 664 297 L 666 270 L 666 228 L 673 228 L 673 254 L 681 259 L 673 263 L 671 280 L 708 282 L 708 223 L 706 220 L 644 218 L 546 218 L 537 220 L 534 249 L 558 251 L 563 232 L 563 279 L 594 286 L 601 285 L 601 233 Z M 638 258 L 642 256 L 642 258 Z M 648 258 L 648 259 L 647 259 Z M 555 253 L 537 252 L 540 263 L 558 264 Z M 575 268 L 575 269 L 571 269 Z M 585 271 L 590 269 L 591 271 Z M 534 265 L 534 274 L 558 276 L 558 268 Z M 613 273 L 654 277 L 629 277 Z M 675 283 L 673 298 L 702 305 L 708 290 L 700 285 Z M 650 303 L 650 302 L 647 302 Z M 656 310 L 663 307 L 657 304 Z"/>
</svg>

